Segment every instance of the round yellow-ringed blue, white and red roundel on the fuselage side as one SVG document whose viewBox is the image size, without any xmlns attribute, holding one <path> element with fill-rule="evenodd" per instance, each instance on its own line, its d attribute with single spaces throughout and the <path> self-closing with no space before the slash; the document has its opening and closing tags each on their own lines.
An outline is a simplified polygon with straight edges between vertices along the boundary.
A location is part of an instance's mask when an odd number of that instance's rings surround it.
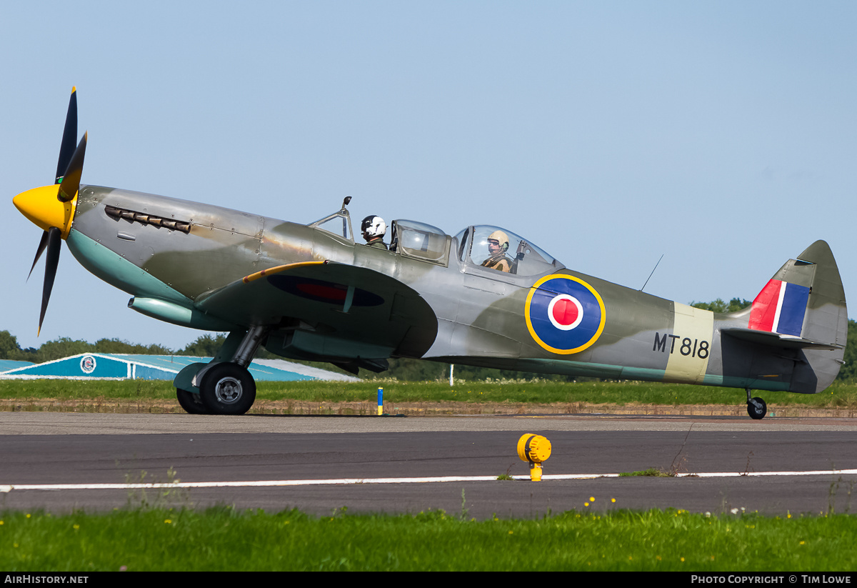
<svg viewBox="0 0 857 588">
<path fill-rule="evenodd" d="M 596 342 L 607 312 L 595 288 L 569 275 L 549 275 L 530 288 L 524 307 L 527 329 L 553 353 L 578 353 Z"/>
</svg>

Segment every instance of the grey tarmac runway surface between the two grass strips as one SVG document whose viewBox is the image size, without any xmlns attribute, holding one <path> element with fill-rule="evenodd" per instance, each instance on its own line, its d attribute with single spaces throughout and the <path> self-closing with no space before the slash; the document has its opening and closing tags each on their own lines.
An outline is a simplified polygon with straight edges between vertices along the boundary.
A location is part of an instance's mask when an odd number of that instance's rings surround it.
<svg viewBox="0 0 857 588">
<path fill-rule="evenodd" d="M 518 459 L 524 433 L 552 443 L 542 482 Z M 842 513 L 857 494 L 855 434 L 846 418 L 0 412 L 0 509 Z M 680 477 L 617 476 L 648 468 Z"/>
</svg>

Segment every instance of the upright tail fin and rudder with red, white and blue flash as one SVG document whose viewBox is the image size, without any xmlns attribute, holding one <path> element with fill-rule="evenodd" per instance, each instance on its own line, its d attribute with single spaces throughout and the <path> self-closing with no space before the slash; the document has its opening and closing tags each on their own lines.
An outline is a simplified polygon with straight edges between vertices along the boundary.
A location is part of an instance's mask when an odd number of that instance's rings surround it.
<svg viewBox="0 0 857 588">
<path fill-rule="evenodd" d="M 816 393 L 830 386 L 842 366 L 848 337 L 845 291 L 836 260 L 824 241 L 789 260 L 753 300 L 747 325 L 778 333 L 803 348 L 790 389 Z M 761 333 L 760 333 L 761 334 Z"/>
</svg>

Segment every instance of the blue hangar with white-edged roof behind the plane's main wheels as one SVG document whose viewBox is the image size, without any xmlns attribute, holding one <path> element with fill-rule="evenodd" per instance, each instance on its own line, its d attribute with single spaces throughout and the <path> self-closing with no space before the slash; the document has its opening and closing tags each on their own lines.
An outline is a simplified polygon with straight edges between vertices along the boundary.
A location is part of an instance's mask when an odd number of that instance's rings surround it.
<svg viewBox="0 0 857 588">
<path fill-rule="evenodd" d="M 64 380 L 172 380 L 190 363 L 208 363 L 211 357 L 81 353 L 52 362 L 0 368 L 0 378 L 59 378 Z M 4 369 L 4 371 L 3 371 Z M 249 366 L 257 381 L 359 381 L 351 375 L 310 368 L 282 359 L 255 359 Z"/>
</svg>

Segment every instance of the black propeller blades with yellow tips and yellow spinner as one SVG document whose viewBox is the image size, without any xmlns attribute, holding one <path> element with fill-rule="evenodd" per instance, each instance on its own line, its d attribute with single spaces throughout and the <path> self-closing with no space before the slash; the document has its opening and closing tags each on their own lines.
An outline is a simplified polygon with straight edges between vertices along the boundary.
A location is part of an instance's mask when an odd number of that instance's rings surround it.
<svg viewBox="0 0 857 588">
<path fill-rule="evenodd" d="M 39 315 L 39 333 L 42 330 L 42 322 L 45 321 L 45 311 L 51 298 L 54 279 L 57 277 L 57 266 L 59 265 L 59 252 L 62 247 L 63 238 L 68 235 L 71 225 L 73 207 L 63 206 L 74 204 L 78 190 L 81 188 L 81 173 L 83 171 L 83 159 L 87 152 L 87 134 L 83 135 L 81 142 L 75 147 L 77 140 L 77 90 L 72 88 L 69 99 L 69 111 L 65 117 L 65 129 L 63 129 L 63 143 L 59 150 L 57 160 L 56 191 L 45 189 L 33 189 L 21 195 L 15 196 L 15 206 L 21 209 L 28 218 L 42 226 L 39 247 L 33 259 L 33 267 L 36 267 L 42 253 L 47 249 L 45 257 L 45 285 L 42 288 L 42 309 Z M 47 190 L 47 191 L 45 191 Z M 62 209 L 57 213 L 57 204 L 51 204 L 56 197 Z M 62 225 L 62 226 L 57 226 Z M 29 279 L 29 275 L 27 275 Z"/>
</svg>

